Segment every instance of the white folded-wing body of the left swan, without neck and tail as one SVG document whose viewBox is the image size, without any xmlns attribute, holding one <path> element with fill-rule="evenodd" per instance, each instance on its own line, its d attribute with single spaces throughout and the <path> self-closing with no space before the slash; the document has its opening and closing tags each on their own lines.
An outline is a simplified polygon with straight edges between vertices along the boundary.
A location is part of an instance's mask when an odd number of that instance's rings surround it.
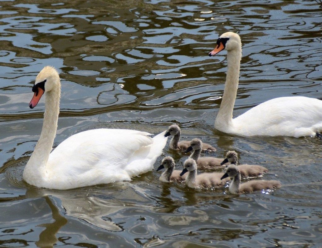
<svg viewBox="0 0 322 248">
<path fill-rule="evenodd" d="M 51 177 L 48 181 L 65 184 L 59 188 L 73 188 L 130 180 L 129 159 L 148 154 L 153 144 L 147 135 L 125 129 L 94 129 L 72 135 L 50 154 L 46 165 Z M 135 174 L 138 172 L 140 169 Z"/>
</svg>

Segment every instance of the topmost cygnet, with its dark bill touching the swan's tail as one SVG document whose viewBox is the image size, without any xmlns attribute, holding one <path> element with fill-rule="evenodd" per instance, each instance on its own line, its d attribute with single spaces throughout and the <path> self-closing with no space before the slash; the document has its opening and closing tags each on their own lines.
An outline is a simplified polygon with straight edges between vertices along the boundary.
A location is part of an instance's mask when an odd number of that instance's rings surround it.
<svg viewBox="0 0 322 248">
<path fill-rule="evenodd" d="M 168 128 L 168 130 L 164 136 L 165 137 L 173 136 L 173 138 L 171 139 L 171 142 L 170 142 L 171 149 L 185 152 L 188 149 L 188 147 L 190 146 L 190 140 L 179 141 L 180 134 L 181 134 L 180 127 L 178 125 L 174 124 Z M 210 144 L 203 143 L 203 147 L 202 147 L 201 152 L 214 152 L 214 151 L 216 151 L 216 148 L 214 148 Z"/>
</svg>

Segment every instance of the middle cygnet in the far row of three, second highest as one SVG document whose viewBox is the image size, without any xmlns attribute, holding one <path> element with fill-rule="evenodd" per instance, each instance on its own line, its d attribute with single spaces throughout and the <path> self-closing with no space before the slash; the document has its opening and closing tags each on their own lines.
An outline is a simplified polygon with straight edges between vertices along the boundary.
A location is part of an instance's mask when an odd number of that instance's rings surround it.
<svg viewBox="0 0 322 248">
<path fill-rule="evenodd" d="M 194 159 L 197 162 L 198 170 L 215 170 L 222 168 L 223 165 L 225 165 L 221 164 L 221 162 L 223 161 L 222 158 L 200 157 L 202 146 L 203 142 L 200 139 L 193 139 L 190 142 L 190 146 L 185 151 L 185 153 L 193 151 L 189 158 Z"/>
</svg>

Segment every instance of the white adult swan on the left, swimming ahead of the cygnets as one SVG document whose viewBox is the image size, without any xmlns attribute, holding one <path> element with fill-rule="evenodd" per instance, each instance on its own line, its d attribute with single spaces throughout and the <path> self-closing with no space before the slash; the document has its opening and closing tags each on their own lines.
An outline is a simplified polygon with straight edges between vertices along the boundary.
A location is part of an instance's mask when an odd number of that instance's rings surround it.
<svg viewBox="0 0 322 248">
<path fill-rule="evenodd" d="M 166 131 L 94 129 L 77 133 L 52 150 L 57 131 L 61 84 L 58 72 L 44 67 L 36 77 L 30 108 L 45 93 L 43 129 L 25 169 L 24 180 L 39 188 L 70 189 L 131 177 L 153 169 L 166 145 Z"/>
</svg>

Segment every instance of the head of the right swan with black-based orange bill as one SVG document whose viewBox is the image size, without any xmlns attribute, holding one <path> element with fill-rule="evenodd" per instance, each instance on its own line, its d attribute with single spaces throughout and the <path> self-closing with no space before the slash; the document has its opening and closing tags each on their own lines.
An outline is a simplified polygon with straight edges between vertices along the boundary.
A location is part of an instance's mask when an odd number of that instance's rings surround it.
<svg viewBox="0 0 322 248">
<path fill-rule="evenodd" d="M 218 52 L 223 51 L 224 49 L 227 51 L 231 51 L 238 48 L 240 49 L 241 46 L 241 38 L 237 33 L 226 32 L 219 37 L 219 39 L 217 40 L 217 46 L 213 51 L 209 53 L 209 56 L 216 55 Z"/>
</svg>

